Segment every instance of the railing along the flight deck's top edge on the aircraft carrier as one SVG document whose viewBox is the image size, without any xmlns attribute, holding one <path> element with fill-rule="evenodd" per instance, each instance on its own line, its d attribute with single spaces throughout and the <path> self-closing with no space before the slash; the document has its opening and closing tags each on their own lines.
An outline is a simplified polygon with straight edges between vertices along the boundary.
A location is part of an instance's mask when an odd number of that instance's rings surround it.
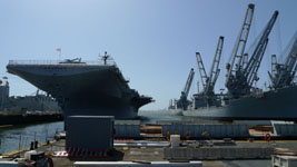
<svg viewBox="0 0 297 167">
<path fill-rule="evenodd" d="M 103 60 L 97 61 L 73 61 L 73 60 L 9 60 L 9 65 L 71 65 L 71 66 L 90 66 L 90 65 L 111 65 L 117 66 L 113 60 L 107 60 L 106 63 Z"/>
</svg>

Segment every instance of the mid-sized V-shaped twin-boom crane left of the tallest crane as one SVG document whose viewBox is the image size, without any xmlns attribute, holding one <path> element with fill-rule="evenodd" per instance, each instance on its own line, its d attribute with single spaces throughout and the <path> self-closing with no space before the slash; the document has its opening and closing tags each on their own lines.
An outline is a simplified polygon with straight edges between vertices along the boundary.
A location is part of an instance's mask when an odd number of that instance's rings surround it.
<svg viewBox="0 0 297 167">
<path fill-rule="evenodd" d="M 201 56 L 199 52 L 196 52 L 196 58 L 197 58 L 197 63 L 198 63 L 198 69 L 199 73 L 201 77 L 201 82 L 204 87 L 204 97 L 206 99 L 212 99 L 215 96 L 215 85 L 217 82 L 220 69 L 219 69 L 219 61 L 221 57 L 221 51 L 222 51 L 222 45 L 224 45 L 224 37 L 220 36 L 217 45 L 217 49 L 215 52 L 214 61 L 210 68 L 209 77 L 206 73 L 205 66 L 201 59 Z"/>
</svg>

